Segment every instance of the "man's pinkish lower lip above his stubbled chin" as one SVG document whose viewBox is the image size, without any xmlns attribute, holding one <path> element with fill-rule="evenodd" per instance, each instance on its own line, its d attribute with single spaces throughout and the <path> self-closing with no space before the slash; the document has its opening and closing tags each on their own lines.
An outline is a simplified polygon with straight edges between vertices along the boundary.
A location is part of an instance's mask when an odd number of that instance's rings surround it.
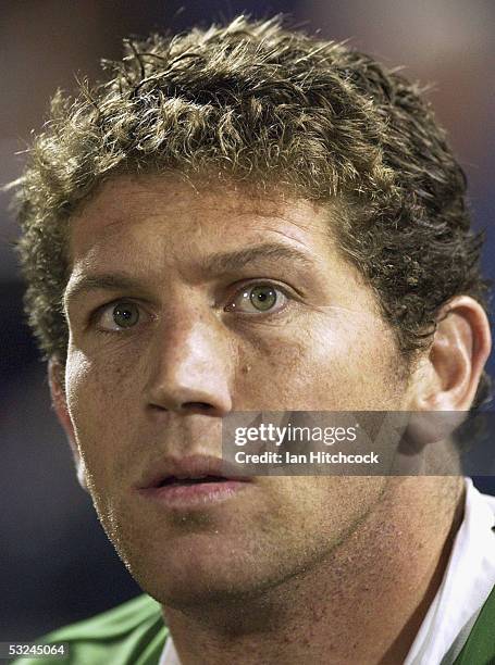
<svg viewBox="0 0 495 665">
<path fill-rule="evenodd" d="M 223 480 L 221 482 L 197 482 L 195 485 L 164 485 L 139 490 L 149 499 L 168 507 L 201 507 L 235 497 L 250 485 L 247 481 Z"/>
</svg>

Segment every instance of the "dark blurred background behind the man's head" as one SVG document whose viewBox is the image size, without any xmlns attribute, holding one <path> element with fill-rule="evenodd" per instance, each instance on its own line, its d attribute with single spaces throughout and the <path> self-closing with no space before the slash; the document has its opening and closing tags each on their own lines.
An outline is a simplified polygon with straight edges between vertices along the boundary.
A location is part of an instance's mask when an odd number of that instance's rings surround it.
<svg viewBox="0 0 495 665">
<path fill-rule="evenodd" d="M 53 91 L 75 75 L 98 76 L 100 58 L 119 58 L 121 40 L 150 30 L 290 14 L 324 37 L 350 39 L 405 74 L 433 83 L 429 97 L 447 127 L 470 183 L 477 228 L 488 241 L 495 173 L 495 2 L 491 0 L 4 0 L 0 9 L 0 184 L 17 177 L 23 150 L 39 130 Z M 50 407 L 40 363 L 22 312 L 23 286 L 10 243 L 16 237 L 0 199 L 0 641 L 32 640 L 136 595 L 79 489 L 69 447 Z M 493 375 L 494 355 L 491 361 Z M 495 493 L 493 478 L 475 478 Z"/>
</svg>

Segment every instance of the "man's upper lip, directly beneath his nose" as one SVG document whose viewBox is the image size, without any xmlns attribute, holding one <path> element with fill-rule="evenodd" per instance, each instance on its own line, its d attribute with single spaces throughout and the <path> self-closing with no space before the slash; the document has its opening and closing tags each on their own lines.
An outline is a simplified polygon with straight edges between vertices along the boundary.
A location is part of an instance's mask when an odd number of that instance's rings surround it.
<svg viewBox="0 0 495 665">
<path fill-rule="evenodd" d="M 237 465 L 225 462 L 221 457 L 209 455 L 166 456 L 145 474 L 143 481 L 139 482 L 139 489 L 159 487 L 171 478 L 184 480 L 206 476 L 219 476 L 225 479 L 243 481 L 251 480 L 250 477 L 240 476 Z"/>
</svg>

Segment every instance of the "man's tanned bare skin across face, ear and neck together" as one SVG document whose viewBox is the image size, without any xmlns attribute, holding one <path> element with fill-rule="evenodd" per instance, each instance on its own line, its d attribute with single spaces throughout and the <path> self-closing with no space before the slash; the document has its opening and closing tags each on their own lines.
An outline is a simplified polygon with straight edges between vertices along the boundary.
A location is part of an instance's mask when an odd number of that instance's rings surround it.
<svg viewBox="0 0 495 665">
<path fill-rule="evenodd" d="M 194 513 L 136 491 L 166 455 L 220 456 L 232 411 L 469 407 L 490 350 L 482 309 L 451 304 L 434 353 L 406 374 L 334 224 L 337 206 L 151 175 L 108 181 L 71 222 L 53 401 L 103 528 L 162 604 L 184 665 L 397 663 L 442 579 L 459 478 L 257 477 Z M 307 263 L 203 265 L 267 242 Z M 76 293 L 102 272 L 134 285 Z M 280 299 L 260 313 L 240 293 L 267 281 Z M 123 299 L 139 319 L 119 329 Z"/>
</svg>

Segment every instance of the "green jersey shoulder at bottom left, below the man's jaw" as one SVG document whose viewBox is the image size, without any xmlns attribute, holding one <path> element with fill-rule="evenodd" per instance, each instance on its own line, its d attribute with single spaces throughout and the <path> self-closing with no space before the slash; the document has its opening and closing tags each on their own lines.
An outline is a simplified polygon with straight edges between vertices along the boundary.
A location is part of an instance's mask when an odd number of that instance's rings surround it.
<svg viewBox="0 0 495 665">
<path fill-rule="evenodd" d="M 144 594 L 102 614 L 53 630 L 37 643 L 63 642 L 67 645 L 67 655 L 53 658 L 53 665 L 147 665 L 158 662 L 168 632 L 159 603 Z M 38 658 L 21 658 L 13 665 L 38 662 Z M 44 663 L 51 665 L 51 660 L 44 658 Z"/>
</svg>

